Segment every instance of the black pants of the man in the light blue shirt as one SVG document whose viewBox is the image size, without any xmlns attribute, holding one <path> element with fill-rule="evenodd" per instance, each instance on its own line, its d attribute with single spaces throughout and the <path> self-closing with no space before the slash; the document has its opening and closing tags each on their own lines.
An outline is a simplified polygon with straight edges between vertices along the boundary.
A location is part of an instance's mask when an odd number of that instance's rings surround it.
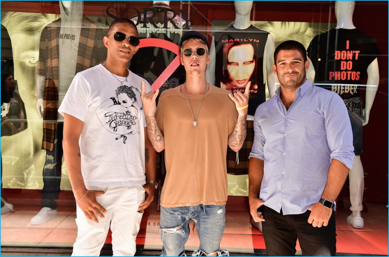
<svg viewBox="0 0 389 257">
<path fill-rule="evenodd" d="M 308 223 L 311 211 L 298 215 L 283 215 L 262 206 L 262 222 L 266 252 L 269 256 L 294 256 L 299 239 L 303 256 L 335 256 L 336 227 L 332 212 L 327 226 L 313 227 Z"/>
</svg>

